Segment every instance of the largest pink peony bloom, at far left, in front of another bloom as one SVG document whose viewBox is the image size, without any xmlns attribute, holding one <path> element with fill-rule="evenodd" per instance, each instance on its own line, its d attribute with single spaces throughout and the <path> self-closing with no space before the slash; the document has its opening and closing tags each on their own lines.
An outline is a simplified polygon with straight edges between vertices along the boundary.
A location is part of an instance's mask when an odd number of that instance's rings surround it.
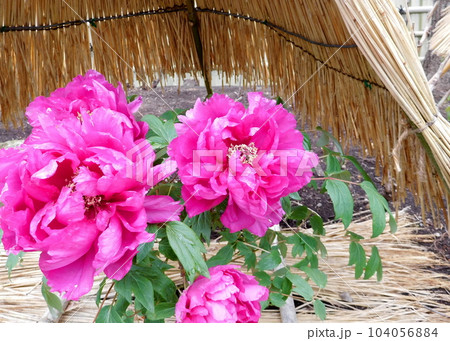
<svg viewBox="0 0 450 341">
<path fill-rule="evenodd" d="M 102 271 L 123 278 L 138 246 L 154 239 L 147 223 L 178 220 L 182 206 L 147 196 L 148 182 L 130 177 L 156 184 L 175 171 L 152 167 L 134 117 L 98 107 L 61 119 L 53 109 L 36 113 L 38 131 L 23 146 L 0 150 L 0 228 L 9 252 L 42 251 L 49 286 L 74 300 Z"/>
</svg>

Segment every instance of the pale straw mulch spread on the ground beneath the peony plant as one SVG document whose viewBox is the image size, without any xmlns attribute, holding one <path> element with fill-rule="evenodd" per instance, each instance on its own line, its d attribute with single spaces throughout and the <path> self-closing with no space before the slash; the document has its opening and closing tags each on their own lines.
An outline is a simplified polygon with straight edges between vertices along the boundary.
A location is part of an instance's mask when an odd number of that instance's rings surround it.
<svg viewBox="0 0 450 341">
<path fill-rule="evenodd" d="M 404 212 L 398 219 L 395 235 L 385 233 L 376 240 L 363 243 L 367 253 L 376 244 L 383 258 L 382 282 L 355 280 L 353 267 L 347 266 L 348 240 L 343 236 L 342 224 L 327 226 L 323 242 L 328 258 L 322 260 L 322 270 L 328 274 L 327 287 L 317 297 L 327 305 L 327 322 L 449 322 L 450 286 L 449 263 L 424 244 L 432 244 L 438 237 L 423 232 L 419 222 Z M 350 226 L 354 232 L 370 235 L 371 221 L 356 222 Z M 286 232 L 290 233 L 290 232 Z M 210 255 L 219 245 L 212 244 Z M 37 253 L 26 254 L 21 266 L 13 270 L 10 280 L 5 270 L 6 255 L 0 255 L 0 322 L 36 322 L 46 312 L 41 296 L 41 272 Z M 297 260 L 287 259 L 288 264 Z M 239 262 L 239 259 L 236 260 Z M 182 279 L 174 270 L 171 277 L 178 285 Z M 91 322 L 97 312 L 95 294 L 101 280 L 96 280 L 89 295 L 79 302 L 71 302 L 60 322 Z M 109 281 L 105 291 L 109 287 Z M 113 295 L 110 295 L 112 298 Z M 106 304 L 108 304 L 107 300 Z M 312 305 L 295 297 L 300 322 L 318 322 Z M 261 322 L 280 322 L 276 309 L 266 309 Z"/>
</svg>

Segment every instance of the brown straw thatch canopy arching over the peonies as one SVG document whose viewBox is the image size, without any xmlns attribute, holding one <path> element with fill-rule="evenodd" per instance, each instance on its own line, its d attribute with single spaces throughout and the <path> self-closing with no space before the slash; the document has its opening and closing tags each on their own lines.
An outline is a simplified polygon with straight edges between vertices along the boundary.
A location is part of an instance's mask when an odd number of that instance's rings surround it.
<svg viewBox="0 0 450 341">
<path fill-rule="evenodd" d="M 374 155 L 395 202 L 409 189 L 424 213 L 446 207 L 450 123 L 390 1 L 5 0 L 0 17 L 5 124 L 89 68 L 130 84 L 218 70 Z"/>
</svg>

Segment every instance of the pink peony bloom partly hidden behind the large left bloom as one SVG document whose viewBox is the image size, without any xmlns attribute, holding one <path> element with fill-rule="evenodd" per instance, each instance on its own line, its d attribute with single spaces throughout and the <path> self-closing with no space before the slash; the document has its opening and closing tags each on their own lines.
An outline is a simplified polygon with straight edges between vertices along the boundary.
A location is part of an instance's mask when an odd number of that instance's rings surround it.
<svg viewBox="0 0 450 341">
<path fill-rule="evenodd" d="M 127 103 L 121 83 L 116 88 L 108 83 L 101 73 L 89 70 L 84 76 L 75 77 L 64 88 L 55 90 L 50 97 L 37 97 L 28 106 L 26 115 L 30 125 L 37 128 L 31 135 L 33 137 L 41 126 L 39 116 L 51 116 L 56 121 L 62 121 L 68 117 L 93 113 L 97 108 L 111 109 L 129 119 L 133 126 L 133 135 L 138 140 L 145 138 L 148 131 L 148 125 L 145 122 L 137 122 L 133 116 L 141 104 L 141 97 Z"/>
</svg>

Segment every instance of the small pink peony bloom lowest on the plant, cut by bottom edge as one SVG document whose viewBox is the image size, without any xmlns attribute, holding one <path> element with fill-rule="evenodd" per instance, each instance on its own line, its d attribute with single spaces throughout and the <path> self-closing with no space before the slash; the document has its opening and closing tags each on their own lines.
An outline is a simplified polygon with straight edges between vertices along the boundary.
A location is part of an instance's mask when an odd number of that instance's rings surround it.
<svg viewBox="0 0 450 341">
<path fill-rule="evenodd" d="M 182 323 L 254 323 L 261 317 L 261 301 L 269 290 L 237 265 L 209 269 L 210 278 L 199 276 L 183 291 L 175 317 Z"/>
</svg>

